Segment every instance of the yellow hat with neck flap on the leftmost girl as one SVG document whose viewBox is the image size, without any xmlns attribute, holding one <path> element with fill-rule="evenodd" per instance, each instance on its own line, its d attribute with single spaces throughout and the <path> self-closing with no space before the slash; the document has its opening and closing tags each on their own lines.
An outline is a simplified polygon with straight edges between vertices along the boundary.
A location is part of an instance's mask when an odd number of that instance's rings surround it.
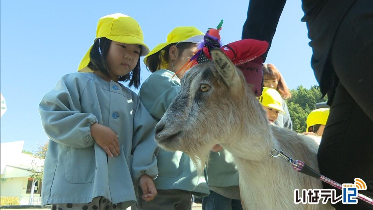
<svg viewBox="0 0 373 210">
<path fill-rule="evenodd" d="M 142 35 L 138 22 L 134 18 L 123 15 L 122 13 L 107 15 L 98 20 L 95 40 L 102 37 L 120 43 L 139 44 L 141 45 L 140 56 L 145 56 L 149 53 L 148 46 L 144 44 L 144 35 Z M 90 62 L 92 46 L 88 49 L 80 62 L 78 72 L 92 72 L 92 70 L 87 67 Z"/>
</svg>

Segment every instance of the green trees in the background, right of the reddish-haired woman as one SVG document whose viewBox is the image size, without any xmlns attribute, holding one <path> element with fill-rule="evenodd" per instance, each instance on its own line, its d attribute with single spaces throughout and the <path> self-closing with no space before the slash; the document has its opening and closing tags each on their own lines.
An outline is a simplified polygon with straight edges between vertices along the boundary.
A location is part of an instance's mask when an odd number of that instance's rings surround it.
<svg viewBox="0 0 373 210">
<path fill-rule="evenodd" d="M 293 123 L 293 130 L 303 133 L 307 128 L 307 116 L 316 108 L 317 102 L 327 101 L 327 97 L 322 98 L 320 88 L 317 85 L 311 86 L 308 90 L 303 86 L 290 90 L 292 97 L 287 100 L 289 114 Z"/>
</svg>

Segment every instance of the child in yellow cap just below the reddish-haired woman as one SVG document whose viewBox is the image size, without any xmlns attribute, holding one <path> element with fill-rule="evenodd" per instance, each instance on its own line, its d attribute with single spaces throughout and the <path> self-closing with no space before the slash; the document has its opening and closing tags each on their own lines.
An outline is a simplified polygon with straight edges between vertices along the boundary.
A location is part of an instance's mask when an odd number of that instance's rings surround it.
<svg viewBox="0 0 373 210">
<path fill-rule="evenodd" d="M 270 124 L 274 124 L 279 113 L 285 114 L 282 109 L 282 98 L 277 90 L 264 87 L 261 96 L 258 97 L 259 103 L 267 112 L 267 119 Z"/>
</svg>

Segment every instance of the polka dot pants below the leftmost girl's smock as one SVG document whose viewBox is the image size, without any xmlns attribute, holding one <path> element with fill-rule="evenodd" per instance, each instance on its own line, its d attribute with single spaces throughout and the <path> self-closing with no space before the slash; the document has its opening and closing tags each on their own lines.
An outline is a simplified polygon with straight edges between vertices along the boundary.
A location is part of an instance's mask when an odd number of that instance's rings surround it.
<svg viewBox="0 0 373 210">
<path fill-rule="evenodd" d="M 113 204 L 105 197 L 95 197 L 90 203 L 52 204 L 51 210 L 122 210 L 122 203 Z"/>
</svg>

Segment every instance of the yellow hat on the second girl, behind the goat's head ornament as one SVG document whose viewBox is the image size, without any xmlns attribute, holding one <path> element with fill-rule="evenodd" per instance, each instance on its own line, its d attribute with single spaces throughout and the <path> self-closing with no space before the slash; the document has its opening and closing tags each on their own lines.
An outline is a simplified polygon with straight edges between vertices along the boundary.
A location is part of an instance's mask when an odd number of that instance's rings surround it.
<svg viewBox="0 0 373 210">
<path fill-rule="evenodd" d="M 158 44 L 156 47 L 154 47 L 150 53 L 145 56 L 144 58 L 144 64 L 146 65 L 147 58 L 160 50 L 163 49 L 163 47 L 166 47 L 169 44 L 172 43 L 181 43 L 181 42 L 191 42 L 191 43 L 200 43 L 203 41 L 204 33 L 202 33 L 200 30 L 198 30 L 194 26 L 180 26 L 174 28 L 169 34 L 167 34 L 166 42 Z M 162 69 L 167 68 L 167 61 L 162 61 Z"/>
</svg>

